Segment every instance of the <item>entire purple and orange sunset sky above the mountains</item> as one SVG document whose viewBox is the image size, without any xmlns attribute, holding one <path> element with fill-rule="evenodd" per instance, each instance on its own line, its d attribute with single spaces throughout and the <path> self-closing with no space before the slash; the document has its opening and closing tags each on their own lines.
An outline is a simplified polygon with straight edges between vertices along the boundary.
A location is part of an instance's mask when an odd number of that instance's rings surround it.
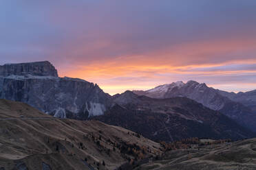
<svg viewBox="0 0 256 170">
<path fill-rule="evenodd" d="M 106 93 L 256 89 L 255 0 L 1 0 L 0 64 L 48 60 Z"/>
</svg>

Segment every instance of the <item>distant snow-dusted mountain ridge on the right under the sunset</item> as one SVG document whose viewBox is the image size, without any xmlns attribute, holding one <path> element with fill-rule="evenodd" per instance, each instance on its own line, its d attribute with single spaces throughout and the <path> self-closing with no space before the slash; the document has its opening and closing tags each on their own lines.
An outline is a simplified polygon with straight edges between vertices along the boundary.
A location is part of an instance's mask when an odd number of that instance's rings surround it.
<svg viewBox="0 0 256 170">
<path fill-rule="evenodd" d="M 204 83 L 200 84 L 195 81 L 189 81 L 186 84 L 183 82 L 175 82 L 172 84 L 157 86 L 151 90 L 135 90 L 134 93 L 158 99 L 188 97 L 189 99 L 198 101 L 200 104 L 203 104 L 208 108 L 222 112 L 226 116 L 237 121 L 240 125 L 246 126 L 250 130 L 256 132 L 256 112 L 248 106 L 237 102 L 241 101 L 241 99 L 238 100 L 239 97 L 235 100 L 230 97 L 232 94 L 230 95 L 230 93 L 225 93 L 226 95 L 223 95 L 224 91 L 209 88 Z M 229 97 L 228 94 L 230 95 Z"/>
</svg>

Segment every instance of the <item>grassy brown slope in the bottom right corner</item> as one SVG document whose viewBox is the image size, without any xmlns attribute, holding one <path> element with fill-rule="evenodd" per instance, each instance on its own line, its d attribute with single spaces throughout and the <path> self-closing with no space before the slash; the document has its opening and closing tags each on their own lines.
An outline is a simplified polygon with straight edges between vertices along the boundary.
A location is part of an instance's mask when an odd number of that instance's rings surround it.
<svg viewBox="0 0 256 170">
<path fill-rule="evenodd" d="M 191 145 L 191 149 L 167 151 L 157 160 L 140 165 L 136 170 L 254 170 L 256 167 L 256 138 L 235 143 Z"/>
</svg>

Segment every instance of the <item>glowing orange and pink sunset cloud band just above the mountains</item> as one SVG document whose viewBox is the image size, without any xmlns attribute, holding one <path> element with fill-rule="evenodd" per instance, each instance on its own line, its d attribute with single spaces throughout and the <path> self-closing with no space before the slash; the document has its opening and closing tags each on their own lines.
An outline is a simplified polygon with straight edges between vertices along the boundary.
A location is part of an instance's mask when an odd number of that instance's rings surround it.
<svg viewBox="0 0 256 170">
<path fill-rule="evenodd" d="M 106 44 L 101 44 L 106 45 Z M 92 49 L 97 49 L 96 47 Z M 83 51 L 81 51 L 83 52 Z M 108 93 L 121 93 L 127 89 L 148 89 L 156 85 L 177 80 L 206 80 L 211 76 L 243 76 L 256 74 L 246 64 L 256 64 L 252 55 L 256 52 L 254 39 L 228 39 L 191 42 L 169 48 L 157 49 L 153 53 L 102 58 L 76 65 L 61 75 L 80 77 L 96 82 Z M 242 58 L 242 55 L 247 55 Z M 104 54 L 103 54 L 104 55 Z M 222 58 L 222 56 L 225 56 Z M 244 64 L 242 69 L 226 69 L 232 64 Z M 215 67 L 220 69 L 214 70 Z M 222 87 L 225 87 L 226 82 Z M 241 82 L 240 82 L 241 84 Z M 253 84 L 248 85 L 252 88 Z M 241 88 L 242 89 L 242 88 Z M 235 90 L 235 87 L 234 87 Z"/>
</svg>

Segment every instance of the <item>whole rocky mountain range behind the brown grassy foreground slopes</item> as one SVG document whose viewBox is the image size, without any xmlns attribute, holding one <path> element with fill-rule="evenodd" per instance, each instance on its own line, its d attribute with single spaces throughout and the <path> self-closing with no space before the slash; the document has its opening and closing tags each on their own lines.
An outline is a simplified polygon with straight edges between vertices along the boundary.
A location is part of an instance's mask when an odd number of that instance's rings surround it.
<svg viewBox="0 0 256 170">
<path fill-rule="evenodd" d="M 111 96 L 92 82 L 58 77 L 47 61 L 0 66 L 2 99 L 22 101 L 54 117 L 119 125 L 155 141 L 255 136 L 254 93 L 243 94 L 250 96 L 246 104 L 235 101 L 236 94 L 189 81 Z"/>
</svg>

